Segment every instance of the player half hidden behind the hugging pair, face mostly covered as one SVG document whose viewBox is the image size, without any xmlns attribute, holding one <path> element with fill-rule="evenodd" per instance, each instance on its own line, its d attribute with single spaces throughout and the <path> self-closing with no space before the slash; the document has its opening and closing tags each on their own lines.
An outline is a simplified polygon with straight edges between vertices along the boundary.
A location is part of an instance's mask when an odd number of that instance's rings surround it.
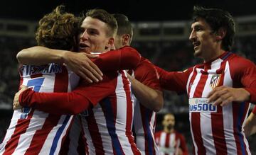
<svg viewBox="0 0 256 155">
<path fill-rule="evenodd" d="M 113 16 L 118 25 L 114 46 L 117 49 L 129 46 L 133 35 L 132 24 L 124 14 L 115 13 Z M 159 154 L 154 140 L 156 112 L 164 104 L 159 76 L 154 65 L 144 57 L 132 73 L 134 78 L 129 79 L 132 82 L 132 93 L 137 97 L 133 120 L 135 142 L 142 154 Z"/>
</svg>

